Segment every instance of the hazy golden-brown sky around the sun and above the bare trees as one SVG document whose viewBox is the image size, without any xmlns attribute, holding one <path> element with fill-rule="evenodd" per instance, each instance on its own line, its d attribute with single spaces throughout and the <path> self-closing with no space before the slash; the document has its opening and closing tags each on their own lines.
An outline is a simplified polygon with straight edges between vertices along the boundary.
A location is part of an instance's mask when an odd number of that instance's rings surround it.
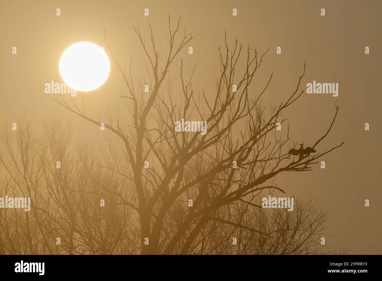
<svg viewBox="0 0 382 281">
<path fill-rule="evenodd" d="M 57 8 L 61 16 L 56 16 Z M 149 8 L 148 17 L 143 15 L 144 8 Z M 232 16 L 233 8 L 237 16 Z M 320 16 L 321 8 L 325 16 Z M 269 48 L 253 90 L 262 90 L 273 72 L 266 96 L 272 104 L 295 90 L 304 61 L 302 89 L 313 80 L 338 83 L 338 97 L 304 93 L 283 114 L 290 121 L 290 137 L 312 146 L 329 128 L 337 104 L 340 109 L 333 129 L 316 150 L 345 144 L 325 155 L 325 169 L 317 164 L 314 171 L 280 174 L 276 183 L 289 195 L 318 197 L 332 224 L 327 244 L 340 242 L 352 254 L 380 254 L 381 8 L 381 1 L 1 1 L 0 118 L 12 123 L 23 114 L 34 115 L 39 128 L 41 120 L 60 116 L 97 139 L 98 128 L 60 108 L 44 93 L 45 83 L 62 82 L 58 62 L 67 47 L 81 41 L 105 46 L 106 29 L 117 60 L 133 56 L 133 76 L 139 77 L 145 68 L 133 26 L 148 39 L 149 19 L 155 40 L 167 50 L 168 14 L 174 25 L 181 16 L 181 32 L 186 27 L 193 35 L 189 45 L 194 53 L 188 55 L 185 49 L 180 57 L 185 69 L 197 66 L 194 83 L 208 94 L 214 90 L 212 69 L 219 71 L 217 47 L 224 44 L 227 31 L 230 45 L 237 38 L 245 48 L 250 44 L 259 53 Z M 278 46 L 281 55 L 276 54 Z M 16 55 L 12 47 L 17 47 Z M 117 66 L 110 63 L 108 80 L 86 95 L 86 112 L 94 118 L 98 111 L 115 107 L 121 90 L 126 92 Z M 170 76 L 178 75 L 176 65 Z M 366 122 L 369 131 L 364 130 Z M 364 207 L 365 199 L 370 207 Z"/>
</svg>

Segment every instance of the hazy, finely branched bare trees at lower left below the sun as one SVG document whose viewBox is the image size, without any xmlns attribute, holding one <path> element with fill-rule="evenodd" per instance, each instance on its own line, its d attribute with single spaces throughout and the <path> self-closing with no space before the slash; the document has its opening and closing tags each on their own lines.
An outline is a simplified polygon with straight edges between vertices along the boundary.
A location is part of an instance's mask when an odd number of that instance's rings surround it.
<svg viewBox="0 0 382 281">
<path fill-rule="evenodd" d="M 6 176 L 0 191 L 29 197 L 32 207 L 0 212 L 2 254 L 122 254 L 131 244 L 122 239 L 131 223 L 126 206 L 100 208 L 100 199 L 116 200 L 112 192 L 123 182 L 99 171 L 94 147 L 74 145 L 73 136 L 60 120 L 46 123 L 42 137 L 34 136 L 25 120 L 16 132 L 3 129 L 0 163 Z"/>
</svg>

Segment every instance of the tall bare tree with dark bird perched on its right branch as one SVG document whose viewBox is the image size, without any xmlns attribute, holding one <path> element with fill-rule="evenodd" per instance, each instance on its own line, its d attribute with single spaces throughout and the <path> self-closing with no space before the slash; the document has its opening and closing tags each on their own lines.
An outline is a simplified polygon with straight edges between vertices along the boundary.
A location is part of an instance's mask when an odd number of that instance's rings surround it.
<svg viewBox="0 0 382 281">
<path fill-rule="evenodd" d="M 113 169 L 131 178 L 134 185 L 136 197 L 132 201 L 125 200 L 125 204 L 139 214 L 142 254 L 187 254 L 192 250 L 196 237 L 210 221 L 219 220 L 241 226 L 237 221 L 218 219 L 215 213 L 235 202 L 254 204 L 253 200 L 267 188 L 283 192 L 277 186 L 268 186 L 267 182 L 283 171 L 311 170 L 311 165 L 317 163 L 319 157 L 342 145 L 312 157 L 306 155 L 290 161 L 284 150 L 289 136 L 286 140 L 275 137 L 268 141 L 267 136 L 275 130 L 282 110 L 304 92 L 298 91 L 305 65 L 296 90 L 286 101 L 271 108 L 267 118 L 262 95 L 272 75 L 261 94 L 249 94 L 249 86 L 266 52 L 259 56 L 256 49 L 252 53 L 248 47 L 243 74 L 237 78 L 236 64 L 242 52 L 242 46 L 237 40 L 232 50 L 228 48 L 227 38 L 224 50 L 219 47 L 220 74 L 216 79 L 213 99 L 208 99 L 205 92 L 199 96 L 195 94 L 192 83 L 194 71 L 189 82 L 185 82 L 182 61 L 182 99 L 181 102 L 175 101 L 171 81 L 165 78 L 175 57 L 193 37 L 191 34 L 186 36 L 185 31 L 180 43 L 176 45 L 180 19 L 175 30 L 171 28 L 170 16 L 168 23 L 169 51 L 163 66 L 159 65 L 162 50 L 155 45 L 150 23 L 151 46 L 146 44 L 139 28 L 134 28 L 144 50 L 147 69 L 150 69 L 149 95 L 144 95 L 141 86 L 133 86 L 131 60 L 127 74 L 106 42 L 126 82 L 128 95 L 121 96 L 121 99 L 124 99 L 128 109 L 132 108 L 129 110 L 132 121 L 122 124 L 118 113 L 115 116 L 108 114 L 109 123 L 105 127 L 117 134 L 125 146 L 125 162 L 116 162 Z M 152 48 L 152 52 L 149 48 Z M 237 92 L 232 91 L 234 84 Z M 100 125 L 100 121 L 86 116 L 84 110 L 81 111 L 77 105 L 71 108 L 61 97 L 55 97 L 54 100 L 81 118 Z M 338 107 L 335 116 L 337 111 Z M 207 134 L 174 130 L 176 121 L 193 118 L 207 121 Z M 237 124 L 242 129 L 235 129 Z M 313 148 L 325 138 L 332 125 Z M 143 169 L 144 161 L 148 159 L 151 160 L 151 168 Z M 232 168 L 233 161 L 236 161 L 238 169 Z M 193 207 L 188 207 L 186 202 L 189 199 L 193 200 Z M 169 220 L 180 214 L 182 218 L 178 218 L 176 224 Z M 242 226 L 245 228 L 245 225 Z M 165 235 L 164 229 L 167 229 Z M 261 229 L 253 231 L 266 234 Z M 149 239 L 148 245 L 144 244 L 145 238 Z"/>
</svg>

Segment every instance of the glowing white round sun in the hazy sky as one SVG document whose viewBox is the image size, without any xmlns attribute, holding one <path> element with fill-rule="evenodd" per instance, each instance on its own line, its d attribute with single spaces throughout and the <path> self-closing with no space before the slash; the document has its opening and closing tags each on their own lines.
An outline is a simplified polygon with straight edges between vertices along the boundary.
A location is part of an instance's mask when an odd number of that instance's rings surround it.
<svg viewBox="0 0 382 281">
<path fill-rule="evenodd" d="M 60 74 L 64 82 L 78 91 L 100 87 L 109 76 L 110 61 L 105 51 L 90 42 L 79 42 L 63 52 Z"/>
</svg>

